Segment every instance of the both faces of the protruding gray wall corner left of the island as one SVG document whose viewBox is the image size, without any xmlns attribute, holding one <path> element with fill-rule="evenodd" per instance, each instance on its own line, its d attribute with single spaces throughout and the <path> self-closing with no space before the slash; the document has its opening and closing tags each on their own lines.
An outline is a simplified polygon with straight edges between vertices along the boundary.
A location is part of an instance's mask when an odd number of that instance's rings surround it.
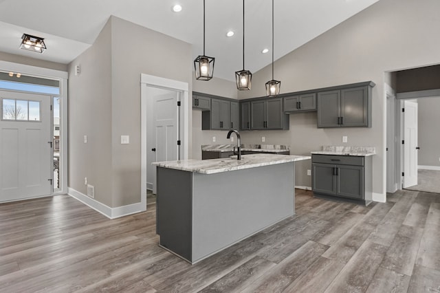
<svg viewBox="0 0 440 293">
<path fill-rule="evenodd" d="M 89 173 L 99 202 L 110 207 L 140 202 L 140 75 L 190 85 L 191 58 L 188 43 L 109 19 L 96 43 L 69 65 L 70 187 L 85 193 Z M 81 75 L 75 79 L 77 64 Z M 87 131 L 93 131 L 91 144 L 82 142 Z M 120 135 L 130 135 L 130 144 L 120 144 Z"/>
</svg>

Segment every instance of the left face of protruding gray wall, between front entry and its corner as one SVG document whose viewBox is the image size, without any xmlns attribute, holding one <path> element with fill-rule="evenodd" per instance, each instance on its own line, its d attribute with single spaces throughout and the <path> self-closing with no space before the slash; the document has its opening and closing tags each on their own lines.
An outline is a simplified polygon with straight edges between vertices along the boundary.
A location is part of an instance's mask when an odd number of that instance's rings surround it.
<svg viewBox="0 0 440 293">
<path fill-rule="evenodd" d="M 69 187 L 112 204 L 111 182 L 111 21 L 94 45 L 69 64 Z M 75 66 L 80 75 L 75 76 Z M 84 143 L 87 135 L 87 144 Z"/>
</svg>

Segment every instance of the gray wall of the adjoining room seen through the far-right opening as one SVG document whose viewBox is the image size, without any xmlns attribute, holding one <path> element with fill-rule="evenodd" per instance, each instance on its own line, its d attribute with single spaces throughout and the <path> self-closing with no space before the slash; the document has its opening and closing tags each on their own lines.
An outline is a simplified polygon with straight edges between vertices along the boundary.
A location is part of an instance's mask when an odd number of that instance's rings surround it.
<svg viewBox="0 0 440 293">
<path fill-rule="evenodd" d="M 419 165 L 440 167 L 440 97 L 418 98 Z"/>
</svg>

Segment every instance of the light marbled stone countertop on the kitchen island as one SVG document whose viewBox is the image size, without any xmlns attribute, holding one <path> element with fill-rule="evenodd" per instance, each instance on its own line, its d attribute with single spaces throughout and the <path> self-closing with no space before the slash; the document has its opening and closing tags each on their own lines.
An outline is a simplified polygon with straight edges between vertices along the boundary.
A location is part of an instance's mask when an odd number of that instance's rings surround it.
<svg viewBox="0 0 440 293">
<path fill-rule="evenodd" d="M 181 171 L 214 174 L 309 159 L 311 159 L 309 155 L 276 155 L 259 153 L 253 155 L 242 155 L 241 160 L 231 158 L 212 160 L 180 160 L 154 162 L 153 165 Z"/>
</svg>

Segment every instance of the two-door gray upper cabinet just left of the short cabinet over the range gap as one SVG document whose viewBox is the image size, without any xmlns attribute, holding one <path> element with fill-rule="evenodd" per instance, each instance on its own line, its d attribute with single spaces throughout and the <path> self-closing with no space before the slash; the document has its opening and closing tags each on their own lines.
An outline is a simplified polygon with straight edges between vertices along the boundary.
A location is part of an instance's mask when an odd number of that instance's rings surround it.
<svg viewBox="0 0 440 293">
<path fill-rule="evenodd" d="M 283 98 L 250 102 L 250 129 L 289 129 L 288 116 L 283 112 Z"/>
</svg>

